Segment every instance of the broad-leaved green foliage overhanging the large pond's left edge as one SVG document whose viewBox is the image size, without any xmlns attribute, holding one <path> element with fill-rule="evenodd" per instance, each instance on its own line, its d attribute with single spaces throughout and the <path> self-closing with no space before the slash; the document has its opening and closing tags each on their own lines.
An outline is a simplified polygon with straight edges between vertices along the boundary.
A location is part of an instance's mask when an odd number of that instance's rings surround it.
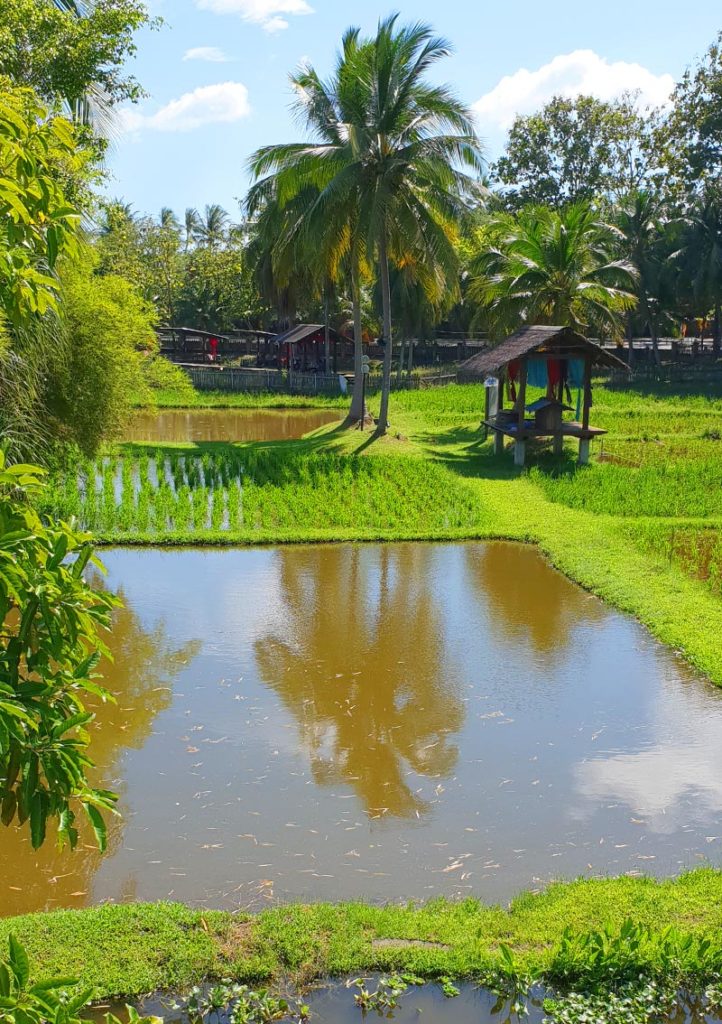
<svg viewBox="0 0 722 1024">
<path fill-rule="evenodd" d="M 110 699 L 95 668 L 116 602 L 85 582 L 88 564 L 99 566 L 90 539 L 35 511 L 41 481 L 41 470 L 0 456 L 0 814 L 29 823 L 34 848 L 54 819 L 58 843 L 74 847 L 80 805 L 103 849 L 115 797 L 88 781 L 83 694 Z"/>
</svg>

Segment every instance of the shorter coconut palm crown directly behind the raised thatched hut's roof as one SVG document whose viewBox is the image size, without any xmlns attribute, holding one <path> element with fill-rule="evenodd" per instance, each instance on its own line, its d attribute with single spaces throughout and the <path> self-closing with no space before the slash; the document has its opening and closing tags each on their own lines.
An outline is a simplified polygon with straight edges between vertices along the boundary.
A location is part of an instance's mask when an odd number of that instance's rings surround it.
<svg viewBox="0 0 722 1024">
<path fill-rule="evenodd" d="M 620 334 L 622 313 L 637 302 L 637 271 L 617 258 L 620 232 L 591 206 L 498 214 L 489 229 L 496 241 L 471 262 L 469 295 L 492 335 L 523 324 Z"/>
</svg>

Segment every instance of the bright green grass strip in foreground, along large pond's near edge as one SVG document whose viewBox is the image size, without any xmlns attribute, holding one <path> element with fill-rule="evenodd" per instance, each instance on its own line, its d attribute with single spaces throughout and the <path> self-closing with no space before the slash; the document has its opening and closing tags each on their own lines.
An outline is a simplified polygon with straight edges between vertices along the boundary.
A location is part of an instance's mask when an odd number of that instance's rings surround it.
<svg viewBox="0 0 722 1024">
<path fill-rule="evenodd" d="M 521 966 L 550 971 L 567 926 L 579 934 L 617 930 L 630 916 L 660 931 L 674 926 L 709 935 L 718 946 L 722 872 L 700 869 L 666 882 L 557 883 L 519 896 L 508 908 L 439 899 L 426 905 L 293 904 L 250 916 L 170 903 L 107 904 L 0 921 L 0 941 L 4 945 L 13 932 L 27 946 L 37 978 L 76 975 L 105 998 L 182 990 L 219 977 L 309 982 L 406 970 L 425 978 L 483 980 L 502 942 Z M 380 939 L 387 941 L 378 945 Z M 435 946 L 409 944 L 419 940 Z"/>
</svg>

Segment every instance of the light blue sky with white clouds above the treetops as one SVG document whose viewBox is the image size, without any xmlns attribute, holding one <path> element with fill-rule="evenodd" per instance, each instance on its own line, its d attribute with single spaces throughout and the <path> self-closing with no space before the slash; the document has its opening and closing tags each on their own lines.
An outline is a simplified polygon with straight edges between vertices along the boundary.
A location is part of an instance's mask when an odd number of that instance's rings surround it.
<svg viewBox="0 0 722 1024">
<path fill-rule="evenodd" d="M 249 155 L 299 137 L 289 72 L 302 60 L 328 72 L 344 29 L 371 32 L 391 10 L 452 42 L 438 77 L 475 106 L 492 157 L 514 113 L 554 93 L 638 88 L 664 102 L 722 29 L 717 0 L 153 0 L 152 9 L 165 25 L 138 36 L 132 63 L 148 97 L 121 112 L 108 185 L 144 213 L 218 202 L 237 214 Z"/>
</svg>

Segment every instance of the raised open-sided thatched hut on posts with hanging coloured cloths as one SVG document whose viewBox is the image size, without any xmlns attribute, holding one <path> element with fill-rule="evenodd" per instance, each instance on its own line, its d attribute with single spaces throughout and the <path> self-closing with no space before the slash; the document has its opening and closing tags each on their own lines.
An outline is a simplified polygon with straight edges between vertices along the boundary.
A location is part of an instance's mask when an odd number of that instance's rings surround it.
<svg viewBox="0 0 722 1024">
<path fill-rule="evenodd" d="M 498 403 L 493 415 L 484 420 L 494 431 L 495 451 L 504 449 L 504 438 L 514 440 L 514 462 L 523 466 L 526 441 L 535 437 L 552 437 L 554 451 L 561 453 L 564 437 L 579 439 L 580 464 L 589 462 L 589 442 L 606 431 L 590 426 L 592 408 L 592 374 L 595 367 L 627 370 L 627 364 L 612 352 L 565 327 L 524 327 L 495 348 L 472 355 L 459 368 L 460 381 L 483 381 L 496 378 Z M 504 386 L 507 384 L 512 407 L 504 408 Z M 545 397 L 530 406 L 526 403 L 528 387 L 542 387 Z M 564 414 L 574 412 L 564 404 L 577 391 L 574 419 Z"/>
</svg>

